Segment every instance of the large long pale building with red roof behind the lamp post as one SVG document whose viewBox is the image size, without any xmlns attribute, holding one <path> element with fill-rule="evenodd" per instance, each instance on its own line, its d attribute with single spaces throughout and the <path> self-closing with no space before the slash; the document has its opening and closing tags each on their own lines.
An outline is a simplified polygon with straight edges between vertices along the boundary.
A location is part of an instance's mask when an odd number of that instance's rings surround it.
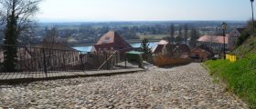
<svg viewBox="0 0 256 109">
<path fill-rule="evenodd" d="M 225 44 L 224 44 L 225 38 Z M 213 52 L 220 52 L 223 50 L 223 45 L 226 49 L 230 49 L 229 35 L 223 37 L 222 35 L 203 35 L 197 39 L 197 45 L 207 45 L 212 48 Z"/>
</svg>

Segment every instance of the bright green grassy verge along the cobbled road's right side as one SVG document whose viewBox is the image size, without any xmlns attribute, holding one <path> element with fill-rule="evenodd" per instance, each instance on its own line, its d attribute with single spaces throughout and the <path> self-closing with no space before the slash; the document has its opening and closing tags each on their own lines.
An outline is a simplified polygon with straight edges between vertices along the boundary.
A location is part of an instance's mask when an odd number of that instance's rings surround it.
<svg viewBox="0 0 256 109">
<path fill-rule="evenodd" d="M 249 54 L 235 63 L 227 60 L 207 61 L 210 74 L 219 76 L 229 92 L 256 108 L 256 54 Z"/>
</svg>

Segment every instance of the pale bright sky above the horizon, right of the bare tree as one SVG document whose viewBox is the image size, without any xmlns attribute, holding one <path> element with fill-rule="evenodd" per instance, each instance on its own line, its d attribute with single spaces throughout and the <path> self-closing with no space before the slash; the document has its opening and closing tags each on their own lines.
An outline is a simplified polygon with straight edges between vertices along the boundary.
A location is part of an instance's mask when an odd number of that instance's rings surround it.
<svg viewBox="0 0 256 109">
<path fill-rule="evenodd" d="M 250 0 L 43 0 L 39 8 L 39 22 L 247 21 L 251 18 Z"/>
</svg>

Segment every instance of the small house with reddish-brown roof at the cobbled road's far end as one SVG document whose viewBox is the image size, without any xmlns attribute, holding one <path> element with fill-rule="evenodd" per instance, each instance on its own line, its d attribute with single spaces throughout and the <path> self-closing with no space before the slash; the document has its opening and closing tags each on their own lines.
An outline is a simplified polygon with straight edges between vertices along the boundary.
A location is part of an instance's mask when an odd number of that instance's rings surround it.
<svg viewBox="0 0 256 109">
<path fill-rule="evenodd" d="M 213 52 L 211 48 L 209 48 L 207 45 L 199 45 L 196 48 L 192 49 L 190 51 L 189 57 L 199 61 L 203 62 L 210 58 L 212 58 Z"/>
</svg>

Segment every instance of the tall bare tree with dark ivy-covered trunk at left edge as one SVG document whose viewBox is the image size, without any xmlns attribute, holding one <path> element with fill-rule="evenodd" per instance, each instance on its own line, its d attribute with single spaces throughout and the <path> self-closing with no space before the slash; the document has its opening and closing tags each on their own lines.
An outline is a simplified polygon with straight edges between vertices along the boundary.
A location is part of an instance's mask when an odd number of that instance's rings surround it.
<svg viewBox="0 0 256 109">
<path fill-rule="evenodd" d="M 32 17 L 38 11 L 41 0 L 0 0 L 1 22 L 4 26 L 6 45 L 4 48 L 5 72 L 16 69 L 18 37 L 33 25 Z"/>
</svg>

